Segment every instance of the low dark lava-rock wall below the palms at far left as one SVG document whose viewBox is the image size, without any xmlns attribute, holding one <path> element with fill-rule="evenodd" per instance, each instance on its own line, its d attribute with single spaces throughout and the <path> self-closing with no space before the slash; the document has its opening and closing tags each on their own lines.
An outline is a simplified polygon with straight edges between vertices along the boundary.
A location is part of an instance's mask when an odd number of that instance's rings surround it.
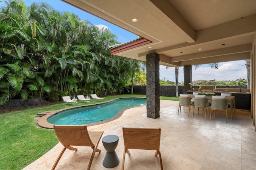
<svg viewBox="0 0 256 170">
<path fill-rule="evenodd" d="M 21 99 L 15 99 L 6 102 L 6 104 L 4 104 L 3 106 L 0 105 L 0 112 L 44 106 L 46 104 L 48 104 L 48 102 L 43 100 L 42 98 L 33 98 L 26 101 Z"/>
</svg>

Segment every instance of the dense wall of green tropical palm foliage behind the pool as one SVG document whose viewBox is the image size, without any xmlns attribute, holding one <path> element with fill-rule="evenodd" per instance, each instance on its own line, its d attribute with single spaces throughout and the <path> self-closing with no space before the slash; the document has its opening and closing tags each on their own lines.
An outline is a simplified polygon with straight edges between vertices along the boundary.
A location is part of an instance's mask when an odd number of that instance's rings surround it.
<svg viewBox="0 0 256 170">
<path fill-rule="evenodd" d="M 116 36 L 47 3 L 5 2 L 0 12 L 0 104 L 11 98 L 122 92 L 139 67 L 113 56 Z M 132 74 L 133 73 L 133 74 Z"/>
</svg>

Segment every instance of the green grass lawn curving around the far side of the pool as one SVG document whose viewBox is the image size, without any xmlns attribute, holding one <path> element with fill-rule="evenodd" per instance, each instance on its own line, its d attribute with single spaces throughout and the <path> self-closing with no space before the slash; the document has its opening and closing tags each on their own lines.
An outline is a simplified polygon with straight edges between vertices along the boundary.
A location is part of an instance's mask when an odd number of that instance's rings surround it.
<svg viewBox="0 0 256 170">
<path fill-rule="evenodd" d="M 122 97 L 143 97 L 145 95 L 116 95 L 104 97 L 104 101 Z M 179 98 L 160 97 L 161 100 Z M 92 104 L 98 103 L 92 100 Z M 78 102 L 76 106 L 88 105 Z M 58 102 L 49 106 L 36 107 L 20 111 L 10 111 L 0 114 L 0 170 L 20 170 L 34 162 L 40 156 L 52 149 L 58 139 L 52 129 L 44 129 L 36 124 L 36 114 L 43 111 L 58 110 L 72 107 L 74 104 Z"/>
</svg>

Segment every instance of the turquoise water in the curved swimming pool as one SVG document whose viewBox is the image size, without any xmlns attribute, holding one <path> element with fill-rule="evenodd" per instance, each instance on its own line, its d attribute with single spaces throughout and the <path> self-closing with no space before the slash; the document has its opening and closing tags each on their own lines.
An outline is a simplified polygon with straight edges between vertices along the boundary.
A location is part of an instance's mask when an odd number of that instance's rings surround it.
<svg viewBox="0 0 256 170">
<path fill-rule="evenodd" d="M 76 107 L 59 111 L 48 117 L 47 121 L 54 125 L 82 125 L 96 123 L 114 117 L 121 109 L 142 105 L 146 105 L 146 99 L 144 98 L 116 99 L 104 104 Z"/>
</svg>

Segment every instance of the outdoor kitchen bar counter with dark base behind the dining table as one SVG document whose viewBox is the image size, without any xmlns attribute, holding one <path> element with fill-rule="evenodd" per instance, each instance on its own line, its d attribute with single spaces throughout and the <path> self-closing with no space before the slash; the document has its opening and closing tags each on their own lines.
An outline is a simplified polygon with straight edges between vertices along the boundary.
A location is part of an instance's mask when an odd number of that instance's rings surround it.
<svg viewBox="0 0 256 170">
<path fill-rule="evenodd" d="M 194 90 L 188 90 L 188 94 L 193 94 L 193 92 L 198 92 L 198 88 L 194 88 Z M 199 93 L 203 93 L 199 91 Z M 208 92 L 210 93 L 210 92 Z M 245 88 L 216 88 L 216 90 L 212 93 L 220 96 L 221 93 L 231 93 L 232 96 L 236 98 L 236 109 L 251 109 L 251 92 L 250 89 Z"/>
</svg>

